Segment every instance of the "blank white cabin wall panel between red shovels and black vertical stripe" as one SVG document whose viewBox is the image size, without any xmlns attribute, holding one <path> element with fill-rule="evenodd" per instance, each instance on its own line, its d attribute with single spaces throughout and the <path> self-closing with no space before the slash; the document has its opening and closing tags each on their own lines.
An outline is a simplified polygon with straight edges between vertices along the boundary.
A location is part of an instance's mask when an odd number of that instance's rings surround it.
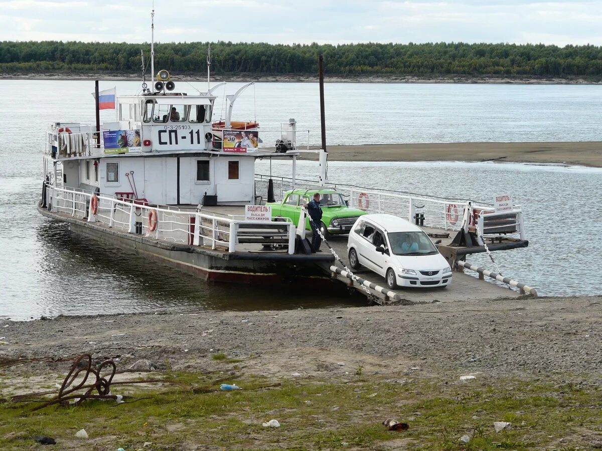
<svg viewBox="0 0 602 451">
<path fill-rule="evenodd" d="M 144 158 L 144 197 L 150 203 L 176 204 L 177 177 L 175 158 Z"/>
</svg>

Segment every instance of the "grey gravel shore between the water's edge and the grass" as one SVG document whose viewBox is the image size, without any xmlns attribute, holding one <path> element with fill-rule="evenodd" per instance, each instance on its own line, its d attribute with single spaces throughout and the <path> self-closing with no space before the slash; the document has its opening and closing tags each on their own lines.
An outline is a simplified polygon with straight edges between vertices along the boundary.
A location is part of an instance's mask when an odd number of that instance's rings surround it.
<svg viewBox="0 0 602 451">
<path fill-rule="evenodd" d="M 60 316 L 1 322 L 0 361 L 91 352 L 119 355 L 121 370 L 140 360 L 157 369 L 213 370 L 211 356 L 223 352 L 250 363 L 245 372 L 268 376 L 337 376 L 361 366 L 391 376 L 564 373 L 598 383 L 601 323 L 602 297 Z"/>
</svg>

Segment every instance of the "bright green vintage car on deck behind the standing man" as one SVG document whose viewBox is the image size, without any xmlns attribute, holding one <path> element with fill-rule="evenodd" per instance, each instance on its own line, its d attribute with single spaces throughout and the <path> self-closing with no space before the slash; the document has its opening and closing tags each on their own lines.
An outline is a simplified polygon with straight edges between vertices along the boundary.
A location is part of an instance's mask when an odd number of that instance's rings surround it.
<svg viewBox="0 0 602 451">
<path fill-rule="evenodd" d="M 313 195 L 320 193 L 320 205 L 322 207 L 322 222 L 320 230 L 327 237 L 329 235 L 341 235 L 349 233 L 353 224 L 359 216 L 366 212 L 355 208 L 349 208 L 343 195 L 332 188 L 297 188 L 287 191 L 282 202 L 268 203 L 272 207 L 272 218 L 290 218 L 295 225 L 299 224 L 301 207 L 308 203 Z M 305 221 L 305 229 L 309 227 L 309 218 Z"/>
</svg>

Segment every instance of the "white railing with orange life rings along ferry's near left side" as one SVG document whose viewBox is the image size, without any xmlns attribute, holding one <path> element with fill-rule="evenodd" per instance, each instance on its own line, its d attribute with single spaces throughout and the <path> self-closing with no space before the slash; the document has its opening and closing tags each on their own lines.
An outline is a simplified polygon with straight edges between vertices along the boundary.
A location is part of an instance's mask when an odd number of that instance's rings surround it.
<svg viewBox="0 0 602 451">
<path fill-rule="evenodd" d="M 249 245 L 281 245 L 287 248 L 289 254 L 294 254 L 296 229 L 291 222 L 232 219 L 142 205 L 104 195 L 96 196 L 98 207 L 96 213 L 93 213 L 93 193 L 52 185 L 47 189 L 49 210 L 52 212 L 98 222 L 125 233 L 160 241 L 211 247 L 214 250 L 225 248 L 229 253 L 235 253 L 237 247 L 241 249 L 243 245 L 245 250 L 252 250 Z M 156 224 L 151 214 L 156 215 Z"/>
</svg>

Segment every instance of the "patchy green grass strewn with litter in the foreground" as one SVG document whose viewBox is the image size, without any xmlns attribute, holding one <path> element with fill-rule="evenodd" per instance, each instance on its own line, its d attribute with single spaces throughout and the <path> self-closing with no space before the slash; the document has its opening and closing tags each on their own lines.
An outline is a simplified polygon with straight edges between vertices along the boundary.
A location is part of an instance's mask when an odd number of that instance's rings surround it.
<svg viewBox="0 0 602 451">
<path fill-rule="evenodd" d="M 403 446 L 416 450 L 568 450 L 600 441 L 596 434 L 602 437 L 600 392 L 569 384 L 516 379 L 400 383 L 360 374 L 346 381 L 287 379 L 267 387 L 275 381 L 233 376 L 226 382 L 243 390 L 226 392 L 208 390 L 219 388 L 222 373 L 167 377 L 177 385 L 134 388 L 137 396 L 150 399 L 133 403 L 89 401 L 31 413 L 31 404 L 5 402 L 0 405 L 0 449 L 31 447 L 33 435 L 54 437 L 61 449 L 82 446 L 75 438 L 81 428 L 96 447 L 87 449 L 138 449 L 144 441 L 153 442 L 153 449 L 178 450 L 194 445 L 379 449 L 389 440 L 408 439 Z M 380 424 L 386 417 L 409 423 L 409 431 L 386 431 Z M 270 419 L 281 428 L 264 428 L 262 422 Z M 497 434 L 494 421 L 513 426 Z M 467 433 L 473 437 L 470 443 L 460 443 Z"/>
</svg>

